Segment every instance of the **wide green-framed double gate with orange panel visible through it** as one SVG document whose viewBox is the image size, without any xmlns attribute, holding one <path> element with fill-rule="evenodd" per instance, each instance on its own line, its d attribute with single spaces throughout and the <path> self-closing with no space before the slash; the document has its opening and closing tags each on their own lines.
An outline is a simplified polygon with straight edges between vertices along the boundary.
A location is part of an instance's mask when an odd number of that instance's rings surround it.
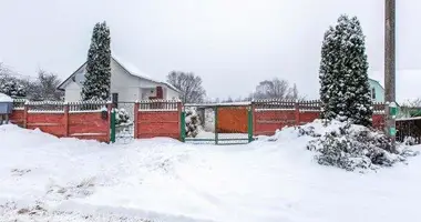
<svg viewBox="0 0 421 222">
<path fill-rule="evenodd" d="M 253 138 L 251 105 L 185 104 L 182 141 L 202 144 L 244 144 Z"/>
</svg>

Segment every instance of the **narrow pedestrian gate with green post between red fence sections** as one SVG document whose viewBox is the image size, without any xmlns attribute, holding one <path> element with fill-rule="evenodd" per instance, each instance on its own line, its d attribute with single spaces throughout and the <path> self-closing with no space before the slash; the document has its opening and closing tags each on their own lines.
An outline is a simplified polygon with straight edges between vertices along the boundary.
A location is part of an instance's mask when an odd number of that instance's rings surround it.
<svg viewBox="0 0 421 222">
<path fill-rule="evenodd" d="M 134 140 L 134 102 L 116 102 L 111 113 L 111 141 L 129 143 Z M 114 131 L 114 132 L 113 132 Z"/>
</svg>

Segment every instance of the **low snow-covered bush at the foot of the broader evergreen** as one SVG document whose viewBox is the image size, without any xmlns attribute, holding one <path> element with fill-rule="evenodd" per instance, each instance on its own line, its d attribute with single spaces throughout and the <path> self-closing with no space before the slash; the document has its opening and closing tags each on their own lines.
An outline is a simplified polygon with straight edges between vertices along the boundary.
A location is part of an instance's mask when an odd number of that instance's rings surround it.
<svg viewBox="0 0 421 222">
<path fill-rule="evenodd" d="M 316 138 L 308 142 L 307 149 L 317 152 L 316 160 L 319 164 L 347 171 L 376 170 L 418 154 L 404 144 L 398 144 L 397 153 L 392 153 L 390 141 L 384 134 L 362 125 L 331 121 L 319 129 L 321 133 L 315 131 L 311 124 L 298 130 L 299 135 Z"/>
</svg>

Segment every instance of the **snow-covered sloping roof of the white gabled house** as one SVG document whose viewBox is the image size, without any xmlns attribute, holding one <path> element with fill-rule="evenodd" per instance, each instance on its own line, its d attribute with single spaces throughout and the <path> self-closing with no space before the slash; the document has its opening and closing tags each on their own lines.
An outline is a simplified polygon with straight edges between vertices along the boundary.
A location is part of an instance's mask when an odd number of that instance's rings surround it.
<svg viewBox="0 0 421 222">
<path fill-rule="evenodd" d="M 175 88 L 174 85 L 167 83 L 167 82 L 163 82 L 163 81 L 158 81 L 158 80 L 155 80 L 155 79 L 152 79 L 148 74 L 142 72 L 140 69 L 136 68 L 136 65 L 130 63 L 130 62 L 125 62 L 121 59 L 121 57 L 116 57 L 115 54 L 112 54 L 111 56 L 111 59 L 115 61 L 115 63 L 117 63 L 120 67 L 122 67 L 125 71 L 127 71 L 130 74 L 132 74 L 133 77 L 137 77 L 137 78 L 141 78 L 141 79 L 144 79 L 144 80 L 147 80 L 147 81 L 151 81 L 151 82 L 155 82 L 155 83 L 160 83 L 160 84 L 164 84 L 166 85 L 167 88 L 176 91 L 179 93 L 179 90 L 177 88 Z M 84 67 L 86 62 L 84 62 L 80 68 L 78 68 L 76 71 L 74 71 L 68 79 L 65 79 L 59 87 L 58 89 L 59 90 L 64 90 L 64 85 L 72 79 L 73 75 L 75 75 L 78 73 L 78 71 Z"/>
</svg>

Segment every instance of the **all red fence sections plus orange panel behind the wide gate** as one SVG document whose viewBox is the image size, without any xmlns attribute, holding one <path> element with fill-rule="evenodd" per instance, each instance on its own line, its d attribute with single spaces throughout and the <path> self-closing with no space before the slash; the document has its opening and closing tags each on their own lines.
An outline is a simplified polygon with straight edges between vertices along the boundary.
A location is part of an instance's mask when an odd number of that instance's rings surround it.
<svg viewBox="0 0 421 222">
<path fill-rule="evenodd" d="M 104 102 L 25 102 L 16 100 L 12 123 L 37 129 L 59 138 L 94 139 L 110 142 L 111 110 Z M 270 135 L 286 125 L 312 122 L 320 115 L 319 101 L 260 100 L 220 108 L 217 131 L 247 132 L 247 110 L 253 113 L 253 134 Z M 181 139 L 183 105 L 179 101 L 134 102 L 133 138 L 168 137 Z M 374 104 L 373 127 L 383 127 L 383 104 Z"/>
</svg>

